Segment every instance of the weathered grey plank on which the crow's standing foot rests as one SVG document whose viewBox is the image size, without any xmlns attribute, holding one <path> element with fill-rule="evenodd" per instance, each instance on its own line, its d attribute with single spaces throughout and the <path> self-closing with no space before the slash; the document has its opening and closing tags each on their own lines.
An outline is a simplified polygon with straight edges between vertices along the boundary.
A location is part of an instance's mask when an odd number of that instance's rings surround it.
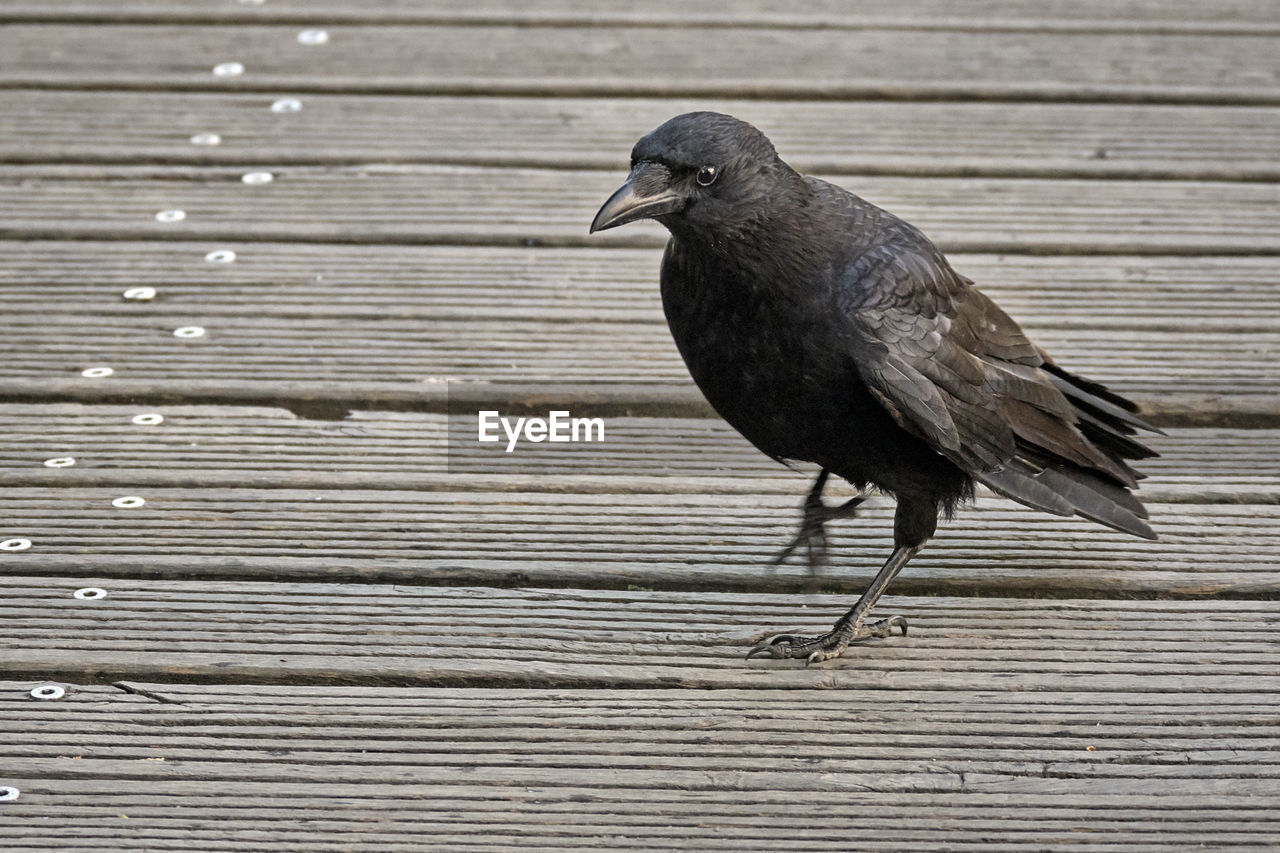
<svg viewBox="0 0 1280 853">
<path fill-rule="evenodd" d="M 77 587 L 109 594 L 79 601 Z M 6 678 L 1280 690 L 1280 603 L 1265 601 L 891 598 L 882 612 L 905 613 L 911 637 L 805 669 L 741 652 L 823 630 L 847 598 L 91 576 L 4 576 L 0 589 Z"/>
</svg>

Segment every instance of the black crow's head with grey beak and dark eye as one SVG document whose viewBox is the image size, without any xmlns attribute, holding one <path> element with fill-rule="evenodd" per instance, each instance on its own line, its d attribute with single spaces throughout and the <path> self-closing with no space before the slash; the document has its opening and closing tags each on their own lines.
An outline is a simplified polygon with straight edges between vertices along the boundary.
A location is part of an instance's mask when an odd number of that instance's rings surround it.
<svg viewBox="0 0 1280 853">
<path fill-rule="evenodd" d="M 631 175 L 591 222 L 591 233 L 637 219 L 672 232 L 748 231 L 771 199 L 799 182 L 758 129 L 732 115 L 685 113 L 631 149 Z"/>
</svg>

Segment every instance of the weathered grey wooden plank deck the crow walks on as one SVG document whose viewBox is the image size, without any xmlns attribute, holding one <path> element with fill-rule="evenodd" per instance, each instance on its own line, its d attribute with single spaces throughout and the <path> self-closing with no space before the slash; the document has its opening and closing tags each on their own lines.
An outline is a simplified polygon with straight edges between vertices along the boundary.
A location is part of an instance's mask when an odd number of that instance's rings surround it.
<svg viewBox="0 0 1280 853">
<path fill-rule="evenodd" d="M 0 0 L 0 848 L 1280 847 L 1280 8 L 792 5 Z M 1160 542 L 984 494 L 745 662 L 892 508 L 768 570 L 804 474 L 588 237 L 687 109 L 1140 401 Z M 531 391 L 608 443 L 451 446 Z"/>
</svg>

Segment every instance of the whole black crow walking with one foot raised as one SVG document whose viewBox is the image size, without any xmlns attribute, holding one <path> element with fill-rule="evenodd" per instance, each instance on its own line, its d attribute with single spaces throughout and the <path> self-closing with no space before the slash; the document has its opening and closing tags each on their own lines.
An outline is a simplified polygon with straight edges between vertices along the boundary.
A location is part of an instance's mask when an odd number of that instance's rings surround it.
<svg viewBox="0 0 1280 853">
<path fill-rule="evenodd" d="M 591 232 L 655 219 L 671 232 L 662 304 L 680 353 L 721 416 L 778 461 L 820 467 L 800 532 L 826 560 L 824 525 L 868 488 L 897 501 L 893 553 L 822 637 L 782 635 L 748 657 L 838 657 L 906 634 L 867 622 L 876 599 L 974 483 L 1055 515 L 1155 539 L 1125 460 L 1156 453 L 1137 406 L 1053 364 L 915 227 L 782 161 L 756 128 L 689 113 L 631 150 L 631 175 Z M 829 474 L 859 496 L 827 506 Z"/>
</svg>

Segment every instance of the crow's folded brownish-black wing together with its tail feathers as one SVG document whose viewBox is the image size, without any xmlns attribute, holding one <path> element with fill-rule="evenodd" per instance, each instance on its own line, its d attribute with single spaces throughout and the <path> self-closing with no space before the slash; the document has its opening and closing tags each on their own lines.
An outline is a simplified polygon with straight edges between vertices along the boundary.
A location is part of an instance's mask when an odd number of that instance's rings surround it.
<svg viewBox="0 0 1280 853">
<path fill-rule="evenodd" d="M 860 200 L 858 200 L 860 201 Z M 863 202 L 865 204 L 865 202 Z M 841 270 L 838 310 L 859 377 L 893 420 L 1021 503 L 1153 538 L 1129 493 L 1126 401 L 1048 362 L 1018 324 L 893 220 Z"/>
</svg>

